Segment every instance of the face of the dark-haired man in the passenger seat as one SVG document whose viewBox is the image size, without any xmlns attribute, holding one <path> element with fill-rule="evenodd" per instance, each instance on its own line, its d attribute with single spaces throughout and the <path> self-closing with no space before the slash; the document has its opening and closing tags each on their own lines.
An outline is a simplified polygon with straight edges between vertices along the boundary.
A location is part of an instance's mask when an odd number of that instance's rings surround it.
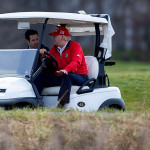
<svg viewBox="0 0 150 150">
<path fill-rule="evenodd" d="M 39 37 L 37 34 L 34 35 L 30 35 L 30 40 L 27 40 L 27 43 L 29 45 L 30 48 L 38 48 L 38 44 L 39 44 Z"/>
</svg>

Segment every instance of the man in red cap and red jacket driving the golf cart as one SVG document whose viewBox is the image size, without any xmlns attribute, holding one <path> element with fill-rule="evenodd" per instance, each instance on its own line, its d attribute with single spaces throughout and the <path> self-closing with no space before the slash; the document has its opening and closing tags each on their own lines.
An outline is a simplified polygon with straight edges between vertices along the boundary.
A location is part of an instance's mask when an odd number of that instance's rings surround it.
<svg viewBox="0 0 150 150">
<path fill-rule="evenodd" d="M 80 44 L 71 41 L 67 28 L 57 26 L 49 35 L 53 36 L 54 40 L 50 54 L 56 58 L 58 69 L 54 74 L 42 72 L 35 84 L 39 93 L 44 86 L 61 86 L 58 101 L 59 106 L 64 106 L 70 101 L 71 85 L 81 86 L 88 80 L 87 66 Z M 40 54 L 44 55 L 44 51 L 46 50 L 41 49 Z"/>
</svg>

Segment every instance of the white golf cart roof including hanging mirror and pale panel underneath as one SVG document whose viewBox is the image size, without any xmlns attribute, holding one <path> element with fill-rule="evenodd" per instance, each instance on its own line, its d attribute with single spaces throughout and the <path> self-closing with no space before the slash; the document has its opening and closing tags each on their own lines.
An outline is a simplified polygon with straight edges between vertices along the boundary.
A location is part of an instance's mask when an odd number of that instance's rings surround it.
<svg viewBox="0 0 150 150">
<path fill-rule="evenodd" d="M 18 21 L 19 29 L 29 28 L 30 24 L 44 23 L 46 18 L 48 18 L 48 24 L 65 24 L 72 36 L 95 35 L 94 23 L 99 23 L 100 25 L 108 23 L 105 18 L 79 13 L 15 12 L 0 14 L 0 19 Z"/>
</svg>

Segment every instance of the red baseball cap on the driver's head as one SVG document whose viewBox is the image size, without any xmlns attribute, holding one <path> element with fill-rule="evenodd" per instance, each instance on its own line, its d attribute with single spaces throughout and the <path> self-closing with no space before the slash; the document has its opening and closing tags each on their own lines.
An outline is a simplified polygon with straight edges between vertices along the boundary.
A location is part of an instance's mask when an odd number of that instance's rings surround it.
<svg viewBox="0 0 150 150">
<path fill-rule="evenodd" d="M 51 35 L 51 36 L 57 36 L 57 35 L 69 36 L 69 31 L 67 28 L 65 28 L 63 26 L 57 26 L 55 31 L 52 33 L 49 33 L 49 35 Z"/>
</svg>

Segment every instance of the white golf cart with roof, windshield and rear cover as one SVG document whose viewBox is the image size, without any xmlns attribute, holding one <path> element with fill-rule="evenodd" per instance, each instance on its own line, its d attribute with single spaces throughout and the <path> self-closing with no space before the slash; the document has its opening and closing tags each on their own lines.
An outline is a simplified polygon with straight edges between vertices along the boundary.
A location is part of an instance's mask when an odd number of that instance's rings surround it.
<svg viewBox="0 0 150 150">
<path fill-rule="evenodd" d="M 40 95 L 34 85 L 34 80 L 48 62 L 43 59 L 42 65 L 35 71 L 46 26 L 52 24 L 67 27 L 72 36 L 96 36 L 94 56 L 85 56 L 89 80 L 81 87 L 72 86 L 70 103 L 64 107 L 81 111 L 97 111 L 105 107 L 125 110 L 119 88 L 109 87 L 109 79 L 104 70 L 105 66 L 115 64 L 107 61 L 112 56 L 111 38 L 114 34 L 108 15 L 17 12 L 0 14 L 0 19 L 18 21 L 19 29 L 27 29 L 30 24 L 43 24 L 38 49 L 0 50 L 0 107 L 57 106 L 59 86 L 45 87 Z M 50 59 L 57 69 L 55 58 L 50 55 Z"/>
</svg>

